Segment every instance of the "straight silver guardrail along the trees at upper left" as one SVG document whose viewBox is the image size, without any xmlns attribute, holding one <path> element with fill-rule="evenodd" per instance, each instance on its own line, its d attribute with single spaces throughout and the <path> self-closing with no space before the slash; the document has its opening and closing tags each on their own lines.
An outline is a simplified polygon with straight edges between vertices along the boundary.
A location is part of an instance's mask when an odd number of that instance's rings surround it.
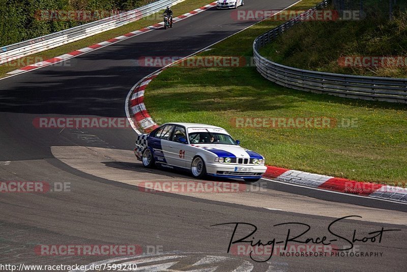
<svg viewBox="0 0 407 272">
<path fill-rule="evenodd" d="M 166 6 L 171 6 L 179 2 L 179 0 L 159 0 L 135 10 L 123 12 L 118 15 L 75 26 L 71 29 L 55 32 L 35 39 L 1 47 L 0 64 L 87 38 L 111 29 L 119 28 L 119 26 L 134 22 L 163 10 Z"/>
</svg>

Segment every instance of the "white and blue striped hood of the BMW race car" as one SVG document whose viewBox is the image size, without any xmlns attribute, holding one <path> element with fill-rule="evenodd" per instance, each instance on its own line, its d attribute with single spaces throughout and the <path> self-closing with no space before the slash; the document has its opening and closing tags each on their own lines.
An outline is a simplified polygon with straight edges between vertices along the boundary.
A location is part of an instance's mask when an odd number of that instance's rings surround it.
<svg viewBox="0 0 407 272">
<path fill-rule="evenodd" d="M 236 145 L 193 144 L 191 146 L 216 154 L 218 157 L 263 158 L 263 156 L 256 152 Z"/>
</svg>

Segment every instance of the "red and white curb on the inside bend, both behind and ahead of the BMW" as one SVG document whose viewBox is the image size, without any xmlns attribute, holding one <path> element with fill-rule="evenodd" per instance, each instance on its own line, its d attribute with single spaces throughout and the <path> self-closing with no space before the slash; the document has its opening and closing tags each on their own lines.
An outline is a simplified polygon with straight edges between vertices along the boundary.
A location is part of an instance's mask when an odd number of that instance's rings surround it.
<svg viewBox="0 0 407 272">
<path fill-rule="evenodd" d="M 129 93 L 127 99 L 127 101 L 129 101 L 128 111 L 133 123 L 135 123 L 135 127 L 133 126 L 133 128 L 135 128 L 138 133 L 142 133 L 141 131 L 148 133 L 158 127 L 149 115 L 146 105 L 144 104 L 144 92 L 149 83 L 165 68 L 167 67 L 164 67 L 158 72 L 138 81 Z M 274 166 L 267 166 L 267 171 L 263 175 L 263 178 L 342 194 L 377 198 L 407 204 L 407 188 L 398 186 L 360 182 Z"/>
</svg>

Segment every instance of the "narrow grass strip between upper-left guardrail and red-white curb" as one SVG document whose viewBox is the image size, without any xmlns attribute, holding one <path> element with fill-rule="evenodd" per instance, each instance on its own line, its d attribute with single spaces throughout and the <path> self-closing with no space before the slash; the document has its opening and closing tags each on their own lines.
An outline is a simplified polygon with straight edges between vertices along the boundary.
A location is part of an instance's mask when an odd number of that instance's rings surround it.
<svg viewBox="0 0 407 272">
<path fill-rule="evenodd" d="M 212 1 L 213 2 L 213 1 Z M 212 3 L 211 0 L 186 0 L 185 2 L 182 2 L 178 5 L 173 6 L 171 9 L 174 13 L 174 17 L 185 14 L 187 12 L 190 12 L 191 10 L 197 9 L 199 7 L 208 5 Z M 103 33 L 100 33 L 98 35 L 85 38 L 76 42 L 68 43 L 47 51 L 39 52 L 33 55 L 30 55 L 30 63 L 27 64 L 26 58 L 22 58 L 20 60 L 15 60 L 12 61 L 11 64 L 2 64 L 0 65 L 0 78 L 8 76 L 7 73 L 17 70 L 21 67 L 24 67 L 26 65 L 34 64 L 33 60 L 48 60 L 57 56 L 61 56 L 65 53 L 69 53 L 71 51 L 81 49 L 83 47 L 93 45 L 95 43 L 103 42 L 106 40 L 109 40 L 114 37 L 121 36 L 123 34 L 139 30 L 141 28 L 144 28 L 145 26 L 149 26 L 155 23 L 160 22 L 159 16 L 155 16 L 157 14 L 160 14 L 162 12 L 158 12 L 156 14 L 150 15 L 146 18 L 142 18 L 138 21 L 126 24 L 124 26 L 121 26 L 120 28 L 113 29 L 110 31 L 106 31 Z M 23 65 L 17 65 L 17 64 L 23 64 Z"/>
</svg>

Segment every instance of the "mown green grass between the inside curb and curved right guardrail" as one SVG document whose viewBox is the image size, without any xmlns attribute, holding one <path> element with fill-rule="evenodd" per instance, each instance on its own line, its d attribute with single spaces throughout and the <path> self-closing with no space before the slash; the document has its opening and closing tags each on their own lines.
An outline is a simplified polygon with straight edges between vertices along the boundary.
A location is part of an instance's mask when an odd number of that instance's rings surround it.
<svg viewBox="0 0 407 272">
<path fill-rule="evenodd" d="M 304 9 L 318 1 L 303 1 Z M 278 22 L 264 21 L 218 43 L 200 56 L 252 56 L 252 42 Z M 158 123 L 197 122 L 227 129 L 268 165 L 373 182 L 407 180 L 405 105 L 318 95 L 280 87 L 255 68 L 164 70 L 144 99 Z M 352 128 L 237 128 L 237 117 L 357 119 Z"/>
</svg>

